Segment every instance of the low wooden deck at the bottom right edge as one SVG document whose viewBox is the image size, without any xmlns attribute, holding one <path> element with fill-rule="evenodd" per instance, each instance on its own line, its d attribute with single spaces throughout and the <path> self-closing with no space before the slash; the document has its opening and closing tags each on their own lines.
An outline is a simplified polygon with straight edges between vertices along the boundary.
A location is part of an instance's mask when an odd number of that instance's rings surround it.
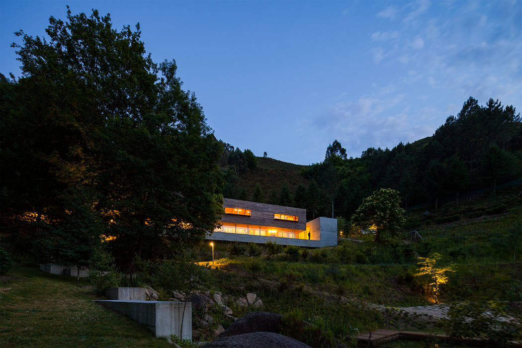
<svg viewBox="0 0 522 348">
<path fill-rule="evenodd" d="M 461 339 L 449 337 L 444 334 L 433 334 L 428 332 L 413 332 L 413 331 L 394 331 L 394 330 L 375 330 L 371 333 L 364 333 L 357 336 L 357 343 L 359 346 L 376 346 L 381 345 L 388 341 L 397 339 L 408 339 L 408 340 L 428 340 L 428 339 L 442 339 L 448 340 L 455 343 L 467 343 L 474 346 L 490 346 L 490 343 L 479 339 Z M 520 342 L 511 342 L 513 347 L 522 347 Z"/>
</svg>

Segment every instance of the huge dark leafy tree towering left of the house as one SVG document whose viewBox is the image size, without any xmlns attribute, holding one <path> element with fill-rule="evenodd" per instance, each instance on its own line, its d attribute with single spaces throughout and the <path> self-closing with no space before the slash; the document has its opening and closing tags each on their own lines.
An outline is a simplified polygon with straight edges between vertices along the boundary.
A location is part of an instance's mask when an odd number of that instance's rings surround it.
<svg viewBox="0 0 522 348">
<path fill-rule="evenodd" d="M 2 81 L 9 205 L 62 234 L 93 214 L 92 237 L 113 235 L 125 259 L 203 238 L 221 210 L 222 148 L 175 62 L 154 63 L 139 25 L 115 30 L 96 10 L 51 17 L 46 34 L 16 33 L 22 77 Z"/>
</svg>

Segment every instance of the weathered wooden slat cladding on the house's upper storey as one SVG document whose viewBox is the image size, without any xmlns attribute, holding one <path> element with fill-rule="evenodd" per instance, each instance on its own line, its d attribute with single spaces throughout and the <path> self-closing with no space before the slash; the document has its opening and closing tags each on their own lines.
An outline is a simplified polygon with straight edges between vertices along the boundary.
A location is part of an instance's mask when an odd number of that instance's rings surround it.
<svg viewBox="0 0 522 348">
<path fill-rule="evenodd" d="M 224 214 L 220 219 L 220 221 L 223 222 L 283 227 L 285 229 L 299 231 L 306 230 L 306 209 L 276 206 L 273 204 L 257 203 L 230 198 L 223 198 L 223 207 L 252 210 L 252 215 L 250 217 Z M 294 215 L 298 217 L 298 221 L 274 219 L 274 214 Z"/>
</svg>

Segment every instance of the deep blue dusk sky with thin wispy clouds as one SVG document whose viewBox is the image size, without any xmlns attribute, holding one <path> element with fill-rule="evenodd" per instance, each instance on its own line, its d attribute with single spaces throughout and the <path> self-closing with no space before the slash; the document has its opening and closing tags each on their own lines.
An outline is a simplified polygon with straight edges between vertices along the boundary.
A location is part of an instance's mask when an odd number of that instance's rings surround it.
<svg viewBox="0 0 522 348">
<path fill-rule="evenodd" d="M 471 96 L 522 109 L 522 0 L 5 1 L 0 73 L 20 76 L 19 29 L 110 13 L 139 22 L 155 62 L 175 59 L 215 136 L 255 155 L 324 160 L 433 135 Z"/>
</svg>

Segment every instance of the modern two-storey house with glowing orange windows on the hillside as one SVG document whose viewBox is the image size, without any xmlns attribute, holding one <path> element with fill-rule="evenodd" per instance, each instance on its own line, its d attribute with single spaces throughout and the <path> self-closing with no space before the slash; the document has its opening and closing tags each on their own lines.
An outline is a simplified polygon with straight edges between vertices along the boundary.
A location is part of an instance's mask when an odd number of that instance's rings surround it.
<svg viewBox="0 0 522 348">
<path fill-rule="evenodd" d="M 304 247 L 337 245 L 337 219 L 317 218 L 306 222 L 306 209 L 276 206 L 238 199 L 223 199 L 224 215 L 214 241 L 238 241 Z"/>
</svg>

